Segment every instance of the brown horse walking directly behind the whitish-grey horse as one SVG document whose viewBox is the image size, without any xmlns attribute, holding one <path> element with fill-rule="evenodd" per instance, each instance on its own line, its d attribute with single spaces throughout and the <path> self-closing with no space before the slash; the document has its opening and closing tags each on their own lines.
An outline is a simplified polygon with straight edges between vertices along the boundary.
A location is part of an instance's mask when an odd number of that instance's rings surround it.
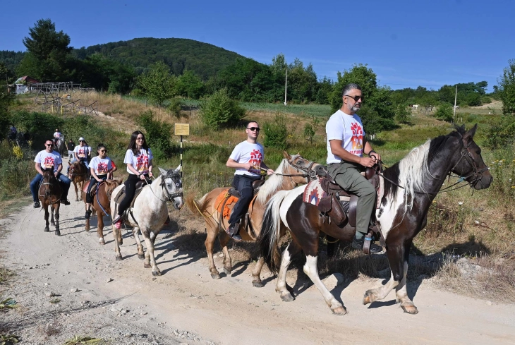
<svg viewBox="0 0 515 345">
<path fill-rule="evenodd" d="M 87 193 L 87 186 L 89 186 L 91 180 L 85 183 L 83 193 Z M 97 214 L 97 235 L 98 241 L 100 244 L 106 244 L 104 241 L 104 214 L 109 217 L 111 216 L 111 194 L 113 193 L 114 188 L 120 186 L 121 179 L 119 180 L 104 180 L 97 184 L 97 190 L 93 196 L 93 202 L 91 204 L 93 208 L 92 215 Z M 84 199 L 84 203 L 86 203 L 86 198 Z M 86 231 L 90 231 L 90 219 L 86 219 Z M 121 232 L 120 232 L 121 234 Z M 121 241 L 121 236 L 119 238 Z"/>
</svg>

